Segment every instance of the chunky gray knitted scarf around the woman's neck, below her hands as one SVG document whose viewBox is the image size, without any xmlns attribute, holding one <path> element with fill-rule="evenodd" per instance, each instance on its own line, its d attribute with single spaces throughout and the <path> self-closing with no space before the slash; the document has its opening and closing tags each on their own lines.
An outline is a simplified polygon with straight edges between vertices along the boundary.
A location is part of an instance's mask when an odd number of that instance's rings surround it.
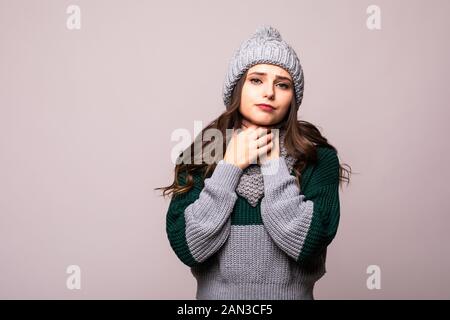
<svg viewBox="0 0 450 320">
<path fill-rule="evenodd" d="M 284 147 L 286 129 L 280 129 L 280 157 L 284 158 L 289 173 L 292 172 L 296 159 L 287 154 Z M 258 164 L 251 164 L 244 169 L 236 193 L 247 199 L 251 206 L 256 207 L 259 200 L 264 197 L 264 181 L 261 167 Z"/>
</svg>

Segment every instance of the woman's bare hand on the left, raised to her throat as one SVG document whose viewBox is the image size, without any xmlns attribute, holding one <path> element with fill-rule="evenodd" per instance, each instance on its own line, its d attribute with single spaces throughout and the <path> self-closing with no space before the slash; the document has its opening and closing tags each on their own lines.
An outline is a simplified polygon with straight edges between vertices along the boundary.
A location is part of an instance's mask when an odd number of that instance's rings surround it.
<svg viewBox="0 0 450 320">
<path fill-rule="evenodd" d="M 234 130 L 223 160 L 244 170 L 250 164 L 267 155 L 273 147 L 273 133 L 264 127 L 248 127 Z"/>
</svg>

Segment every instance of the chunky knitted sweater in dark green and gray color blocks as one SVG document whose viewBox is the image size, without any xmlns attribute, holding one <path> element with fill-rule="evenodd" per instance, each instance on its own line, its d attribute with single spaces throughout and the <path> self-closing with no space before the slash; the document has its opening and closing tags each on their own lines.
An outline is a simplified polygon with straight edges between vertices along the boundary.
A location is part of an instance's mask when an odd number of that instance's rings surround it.
<svg viewBox="0 0 450 320">
<path fill-rule="evenodd" d="M 302 171 L 301 190 L 283 157 L 263 163 L 255 207 L 235 192 L 243 170 L 223 160 L 172 198 L 166 231 L 197 280 L 197 299 L 314 299 L 340 216 L 337 154 L 318 146 L 317 156 Z"/>
</svg>

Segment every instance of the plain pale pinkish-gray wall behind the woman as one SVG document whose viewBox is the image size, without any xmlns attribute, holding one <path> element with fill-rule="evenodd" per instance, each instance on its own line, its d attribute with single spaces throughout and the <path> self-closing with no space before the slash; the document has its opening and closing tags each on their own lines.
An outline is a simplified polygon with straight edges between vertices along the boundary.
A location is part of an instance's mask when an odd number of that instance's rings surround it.
<svg viewBox="0 0 450 320">
<path fill-rule="evenodd" d="M 81 29 L 66 28 L 69 5 Z M 381 30 L 369 30 L 369 5 Z M 232 53 L 277 28 L 299 118 L 352 166 L 317 299 L 448 299 L 450 2 L 0 1 L 0 298 L 193 299 L 165 233 L 171 133 L 223 110 Z M 81 290 L 66 268 L 81 268 Z M 369 290 L 366 269 L 381 268 Z"/>
</svg>

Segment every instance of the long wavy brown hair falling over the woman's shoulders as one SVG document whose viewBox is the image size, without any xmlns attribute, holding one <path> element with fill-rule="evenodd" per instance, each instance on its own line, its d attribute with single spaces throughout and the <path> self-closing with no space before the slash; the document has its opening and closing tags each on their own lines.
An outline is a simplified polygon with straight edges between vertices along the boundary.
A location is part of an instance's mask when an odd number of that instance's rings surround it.
<svg viewBox="0 0 450 320">
<path fill-rule="evenodd" d="M 200 174 L 202 179 L 211 176 L 217 162 L 223 157 L 221 157 L 220 154 L 215 154 L 216 159 L 214 161 L 208 161 L 208 163 L 204 161 L 205 155 L 209 153 L 209 156 L 211 156 L 211 154 L 214 153 L 214 150 L 217 150 L 217 146 L 214 144 L 214 139 L 210 139 L 209 141 L 203 140 L 204 133 L 210 129 L 217 129 L 222 133 L 222 137 L 229 137 L 229 135 L 226 134 L 227 129 L 236 130 L 242 127 L 243 118 L 239 112 L 239 106 L 241 103 L 242 87 L 245 79 L 247 78 L 247 73 L 248 71 L 245 72 L 245 74 L 237 82 L 231 97 L 230 107 L 217 119 L 209 123 L 196 137 L 194 142 L 177 158 L 177 164 L 174 169 L 175 173 L 173 183 L 166 187 L 154 189 L 163 190 L 163 197 L 169 194 L 176 196 L 178 194 L 188 192 L 194 186 L 194 174 Z M 284 145 L 287 153 L 297 159 L 294 164 L 294 172 L 297 178 L 297 185 L 299 187 L 301 184 L 302 170 L 309 163 L 317 162 L 317 146 L 331 148 L 337 153 L 336 148 L 328 143 L 327 139 L 322 136 L 320 131 L 313 124 L 297 119 L 297 105 L 295 97 L 292 98 L 289 112 L 286 114 L 285 118 L 276 125 L 276 127 L 286 129 Z M 226 150 L 229 139 L 222 140 L 222 150 Z M 197 147 L 194 147 L 195 145 L 197 145 Z M 201 148 L 199 145 L 201 145 Z M 199 150 L 197 154 L 195 153 L 196 150 Z M 210 152 L 210 150 L 213 151 Z M 345 167 L 348 167 L 348 169 Z M 339 183 L 341 187 L 343 181 L 347 181 L 347 185 L 350 183 L 351 173 L 352 170 L 349 165 L 339 165 Z M 178 183 L 181 174 L 183 174 L 186 179 L 186 184 L 183 186 Z"/>
</svg>

